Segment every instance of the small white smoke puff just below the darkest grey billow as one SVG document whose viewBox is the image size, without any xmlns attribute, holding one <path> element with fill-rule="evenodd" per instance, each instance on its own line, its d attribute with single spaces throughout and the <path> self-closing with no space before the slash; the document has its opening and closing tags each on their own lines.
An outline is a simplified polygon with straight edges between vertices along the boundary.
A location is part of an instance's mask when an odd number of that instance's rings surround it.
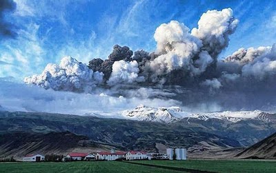
<svg viewBox="0 0 276 173">
<path fill-rule="evenodd" d="M 112 73 L 108 80 L 108 85 L 120 83 L 135 83 L 144 81 L 144 77 L 138 77 L 139 68 L 137 61 L 115 61 L 112 65 Z"/>
</svg>

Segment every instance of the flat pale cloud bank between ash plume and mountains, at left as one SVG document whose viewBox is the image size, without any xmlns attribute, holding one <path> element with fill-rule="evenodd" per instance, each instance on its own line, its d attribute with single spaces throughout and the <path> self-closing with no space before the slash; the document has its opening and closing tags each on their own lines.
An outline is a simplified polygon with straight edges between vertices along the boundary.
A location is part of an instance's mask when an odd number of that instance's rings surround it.
<svg viewBox="0 0 276 173">
<path fill-rule="evenodd" d="M 139 99 L 110 96 L 111 90 L 99 90 L 92 94 L 44 90 L 36 86 L 0 81 L 0 105 L 9 111 L 51 112 L 62 114 L 108 113 L 148 106 L 179 105 L 170 99 Z M 14 92 L 17 91 L 17 92 Z"/>
</svg>

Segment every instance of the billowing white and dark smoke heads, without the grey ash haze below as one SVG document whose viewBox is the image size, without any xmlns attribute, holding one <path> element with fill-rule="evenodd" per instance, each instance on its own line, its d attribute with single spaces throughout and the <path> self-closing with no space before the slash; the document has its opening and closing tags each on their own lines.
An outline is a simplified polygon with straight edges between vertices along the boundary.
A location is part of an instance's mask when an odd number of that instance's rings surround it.
<svg viewBox="0 0 276 173">
<path fill-rule="evenodd" d="M 115 45 L 108 60 L 93 59 L 87 68 L 67 58 L 68 63 L 49 64 L 42 74 L 25 81 L 54 90 L 87 91 L 102 82 L 103 74 L 103 84 L 110 86 L 139 82 L 164 84 L 167 74 L 173 70 L 181 70 L 181 77 L 198 77 L 210 69 L 209 66 L 215 68 L 217 55 L 228 45 L 228 37 L 235 31 L 237 23 L 230 8 L 208 10 L 201 16 L 198 28 L 193 28 L 191 33 L 178 21 L 161 24 L 154 34 L 157 50 L 151 54 L 138 51 L 133 57 L 128 47 Z"/>
</svg>

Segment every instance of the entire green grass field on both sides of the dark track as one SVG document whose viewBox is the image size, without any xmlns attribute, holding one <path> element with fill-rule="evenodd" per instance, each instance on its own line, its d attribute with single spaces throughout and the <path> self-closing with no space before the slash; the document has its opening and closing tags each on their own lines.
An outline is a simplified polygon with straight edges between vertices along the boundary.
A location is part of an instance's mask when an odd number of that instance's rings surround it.
<svg viewBox="0 0 276 173">
<path fill-rule="evenodd" d="M 147 165 L 134 165 L 117 161 L 82 161 L 70 163 L 0 163 L 0 172 L 158 172 L 180 173 L 174 167 L 210 172 L 276 172 L 276 161 L 248 160 L 188 160 L 188 161 L 132 161 L 166 166 L 166 169 Z"/>
</svg>

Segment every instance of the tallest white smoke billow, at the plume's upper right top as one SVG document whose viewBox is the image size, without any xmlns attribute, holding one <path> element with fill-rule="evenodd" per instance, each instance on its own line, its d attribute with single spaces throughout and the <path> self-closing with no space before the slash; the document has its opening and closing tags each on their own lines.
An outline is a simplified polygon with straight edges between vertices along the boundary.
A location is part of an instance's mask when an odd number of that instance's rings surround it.
<svg viewBox="0 0 276 173">
<path fill-rule="evenodd" d="M 202 14 L 198 28 L 193 28 L 192 35 L 201 39 L 204 50 L 216 57 L 221 50 L 228 46 L 229 35 L 233 34 L 239 20 L 233 17 L 230 8 L 221 11 L 208 10 Z"/>
</svg>

